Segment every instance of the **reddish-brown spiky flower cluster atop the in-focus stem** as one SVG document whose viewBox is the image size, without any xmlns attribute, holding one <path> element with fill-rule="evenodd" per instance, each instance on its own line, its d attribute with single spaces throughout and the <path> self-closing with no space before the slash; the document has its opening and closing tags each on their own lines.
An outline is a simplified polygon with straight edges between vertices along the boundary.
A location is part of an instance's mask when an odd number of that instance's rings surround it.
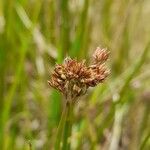
<svg viewBox="0 0 150 150">
<path fill-rule="evenodd" d="M 93 63 L 89 66 L 85 64 L 85 60 L 78 62 L 67 57 L 63 64 L 56 64 L 48 83 L 67 100 L 74 100 L 84 95 L 89 87 L 94 87 L 106 79 L 110 73 L 105 65 L 108 57 L 109 52 L 99 47 L 93 54 Z"/>
</svg>

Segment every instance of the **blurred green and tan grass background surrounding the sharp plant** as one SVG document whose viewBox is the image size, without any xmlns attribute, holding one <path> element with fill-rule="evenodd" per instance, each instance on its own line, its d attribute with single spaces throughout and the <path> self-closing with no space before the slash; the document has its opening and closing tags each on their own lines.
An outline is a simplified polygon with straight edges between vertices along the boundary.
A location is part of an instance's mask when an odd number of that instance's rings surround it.
<svg viewBox="0 0 150 150">
<path fill-rule="evenodd" d="M 66 56 L 111 52 L 111 75 L 75 107 L 72 150 L 150 149 L 149 0 L 0 0 L 0 150 L 53 149 Z"/>
</svg>

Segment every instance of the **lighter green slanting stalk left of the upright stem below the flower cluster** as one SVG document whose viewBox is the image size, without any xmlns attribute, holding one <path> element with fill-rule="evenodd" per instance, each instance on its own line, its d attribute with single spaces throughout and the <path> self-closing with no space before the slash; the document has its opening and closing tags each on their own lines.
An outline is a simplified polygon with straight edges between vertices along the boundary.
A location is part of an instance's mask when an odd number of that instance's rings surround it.
<svg viewBox="0 0 150 150">
<path fill-rule="evenodd" d="M 65 108 L 62 112 L 61 119 L 57 128 L 57 135 L 56 135 L 56 141 L 55 141 L 55 150 L 60 150 L 61 149 L 61 139 L 63 135 L 63 130 L 64 130 L 64 125 L 66 122 L 67 114 L 68 114 L 68 109 L 67 104 L 65 105 Z"/>
</svg>

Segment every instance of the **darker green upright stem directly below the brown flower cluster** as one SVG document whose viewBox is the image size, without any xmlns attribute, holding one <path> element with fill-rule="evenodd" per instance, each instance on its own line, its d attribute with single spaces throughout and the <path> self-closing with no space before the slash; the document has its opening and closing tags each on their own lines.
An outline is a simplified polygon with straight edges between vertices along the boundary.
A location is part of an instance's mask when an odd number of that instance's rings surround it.
<svg viewBox="0 0 150 150">
<path fill-rule="evenodd" d="M 68 103 L 68 114 L 66 118 L 66 123 L 64 127 L 64 136 L 63 136 L 63 150 L 70 150 L 70 136 L 72 131 L 72 120 L 73 120 L 73 104 Z"/>
</svg>

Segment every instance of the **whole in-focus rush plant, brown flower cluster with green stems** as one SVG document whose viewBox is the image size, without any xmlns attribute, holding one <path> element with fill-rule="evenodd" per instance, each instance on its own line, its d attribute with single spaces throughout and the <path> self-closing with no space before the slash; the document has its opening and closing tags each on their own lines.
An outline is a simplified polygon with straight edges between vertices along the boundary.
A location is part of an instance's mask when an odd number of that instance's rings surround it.
<svg viewBox="0 0 150 150">
<path fill-rule="evenodd" d="M 107 49 L 97 47 L 90 65 L 87 65 L 85 60 L 78 62 L 70 57 L 65 58 L 63 64 L 56 64 L 48 83 L 65 97 L 65 107 L 57 129 L 56 150 L 70 149 L 69 138 L 75 102 L 87 92 L 89 87 L 102 83 L 109 75 L 110 71 L 105 64 L 108 57 Z"/>
</svg>

